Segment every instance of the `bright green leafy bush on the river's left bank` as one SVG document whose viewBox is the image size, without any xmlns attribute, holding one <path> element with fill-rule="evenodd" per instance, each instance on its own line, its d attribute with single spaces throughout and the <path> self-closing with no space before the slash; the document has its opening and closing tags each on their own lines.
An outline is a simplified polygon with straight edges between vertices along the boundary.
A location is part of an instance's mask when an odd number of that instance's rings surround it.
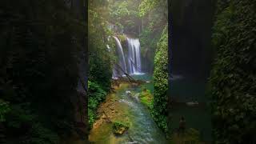
<svg viewBox="0 0 256 144">
<path fill-rule="evenodd" d="M 100 102 L 103 102 L 106 98 L 106 91 L 102 90 L 101 86 L 94 82 L 88 82 L 88 118 L 90 127 L 93 126 L 97 115 L 96 111 Z"/>
</svg>

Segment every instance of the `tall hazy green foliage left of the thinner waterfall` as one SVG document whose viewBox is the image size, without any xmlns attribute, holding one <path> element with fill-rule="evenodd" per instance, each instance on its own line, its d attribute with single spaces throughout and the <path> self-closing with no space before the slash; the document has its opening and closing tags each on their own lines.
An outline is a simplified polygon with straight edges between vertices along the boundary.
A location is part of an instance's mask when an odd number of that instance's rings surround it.
<svg viewBox="0 0 256 144">
<path fill-rule="evenodd" d="M 103 90 L 110 89 L 114 51 L 108 50 L 106 45 L 112 46 L 108 38 L 111 31 L 107 29 L 107 22 L 102 18 L 102 13 L 89 10 L 89 80 L 97 82 Z"/>
</svg>

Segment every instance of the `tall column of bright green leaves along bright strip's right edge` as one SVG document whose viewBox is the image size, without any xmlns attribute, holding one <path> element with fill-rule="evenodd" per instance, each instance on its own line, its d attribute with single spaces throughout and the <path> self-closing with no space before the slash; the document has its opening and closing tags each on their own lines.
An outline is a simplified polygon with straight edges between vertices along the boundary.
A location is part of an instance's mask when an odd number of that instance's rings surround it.
<svg viewBox="0 0 256 144">
<path fill-rule="evenodd" d="M 166 132 L 168 90 L 168 30 L 162 32 L 154 57 L 154 120 Z"/>
</svg>

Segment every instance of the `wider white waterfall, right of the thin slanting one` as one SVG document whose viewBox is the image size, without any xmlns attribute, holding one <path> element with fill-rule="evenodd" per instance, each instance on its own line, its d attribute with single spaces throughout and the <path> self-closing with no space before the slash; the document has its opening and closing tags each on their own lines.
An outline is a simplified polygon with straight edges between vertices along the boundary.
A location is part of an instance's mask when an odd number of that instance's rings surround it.
<svg viewBox="0 0 256 144">
<path fill-rule="evenodd" d="M 142 74 L 141 50 L 138 38 L 127 38 L 128 44 L 128 72 L 129 74 Z"/>
</svg>

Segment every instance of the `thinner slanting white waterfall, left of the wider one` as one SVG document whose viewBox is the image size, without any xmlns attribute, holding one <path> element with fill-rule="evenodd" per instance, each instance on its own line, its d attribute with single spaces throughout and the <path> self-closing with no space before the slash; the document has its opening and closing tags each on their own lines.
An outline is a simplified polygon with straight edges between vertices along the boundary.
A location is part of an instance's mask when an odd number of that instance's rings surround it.
<svg viewBox="0 0 256 144">
<path fill-rule="evenodd" d="M 114 37 L 114 36 L 113 36 Z M 118 65 L 121 66 L 122 70 L 124 70 L 125 72 L 127 72 L 126 69 L 126 59 L 125 59 L 125 55 L 123 53 L 122 50 L 122 45 L 121 42 L 119 41 L 119 39 L 117 37 L 114 37 L 116 46 L 117 46 L 117 54 L 118 54 Z M 114 78 L 118 78 L 118 71 L 115 69 L 118 68 L 118 66 L 114 66 L 114 70 L 113 70 L 113 77 Z M 122 73 L 123 74 L 123 73 Z M 120 74 L 119 74 L 120 75 Z"/>
</svg>

